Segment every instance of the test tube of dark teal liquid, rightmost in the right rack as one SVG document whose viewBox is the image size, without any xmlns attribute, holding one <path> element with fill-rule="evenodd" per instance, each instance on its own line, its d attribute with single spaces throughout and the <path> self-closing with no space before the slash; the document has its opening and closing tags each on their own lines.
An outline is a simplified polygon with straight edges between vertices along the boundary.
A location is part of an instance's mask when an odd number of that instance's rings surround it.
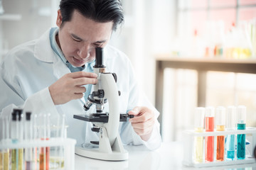
<svg viewBox="0 0 256 170">
<path fill-rule="evenodd" d="M 238 106 L 238 130 L 245 130 L 246 107 Z M 237 159 L 245 159 L 245 134 L 238 135 Z"/>
</svg>

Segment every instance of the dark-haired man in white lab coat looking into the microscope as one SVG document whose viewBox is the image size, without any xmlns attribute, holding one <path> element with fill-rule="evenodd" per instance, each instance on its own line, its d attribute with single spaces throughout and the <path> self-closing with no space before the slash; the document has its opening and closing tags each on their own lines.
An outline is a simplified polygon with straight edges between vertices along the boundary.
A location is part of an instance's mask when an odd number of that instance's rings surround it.
<svg viewBox="0 0 256 170">
<path fill-rule="evenodd" d="M 124 145 L 161 145 L 159 112 L 139 91 L 132 64 L 124 53 L 107 45 L 112 31 L 124 21 L 119 0 L 61 0 L 56 24 L 37 40 L 14 47 L 0 65 L 0 111 L 14 107 L 34 114 L 50 113 L 51 123 L 65 114 L 67 135 L 77 145 L 98 141 L 92 123 L 77 120 L 97 84 L 95 47 L 104 47 L 106 72 L 117 74 L 120 113 L 134 118 L 119 124 Z M 92 108 L 93 109 L 93 108 Z M 107 111 L 107 107 L 105 111 Z"/>
</svg>

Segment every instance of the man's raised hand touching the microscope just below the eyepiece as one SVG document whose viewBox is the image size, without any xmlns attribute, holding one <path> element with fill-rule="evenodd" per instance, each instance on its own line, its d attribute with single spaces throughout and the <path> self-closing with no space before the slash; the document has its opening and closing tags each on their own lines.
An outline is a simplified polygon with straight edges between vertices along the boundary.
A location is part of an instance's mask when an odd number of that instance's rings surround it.
<svg viewBox="0 0 256 170">
<path fill-rule="evenodd" d="M 83 85 L 97 84 L 97 74 L 91 72 L 73 72 L 65 74 L 49 86 L 50 96 L 55 105 L 64 104 L 73 99 L 82 98 L 86 89 Z"/>
</svg>

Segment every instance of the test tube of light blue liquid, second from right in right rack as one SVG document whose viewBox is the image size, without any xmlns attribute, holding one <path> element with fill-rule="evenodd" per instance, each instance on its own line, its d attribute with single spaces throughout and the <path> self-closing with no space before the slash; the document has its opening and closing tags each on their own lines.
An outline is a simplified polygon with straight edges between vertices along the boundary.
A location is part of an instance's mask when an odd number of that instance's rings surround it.
<svg viewBox="0 0 256 170">
<path fill-rule="evenodd" d="M 228 106 L 226 130 L 235 130 L 235 106 Z M 227 135 L 226 138 L 226 159 L 235 159 L 235 135 Z"/>
</svg>

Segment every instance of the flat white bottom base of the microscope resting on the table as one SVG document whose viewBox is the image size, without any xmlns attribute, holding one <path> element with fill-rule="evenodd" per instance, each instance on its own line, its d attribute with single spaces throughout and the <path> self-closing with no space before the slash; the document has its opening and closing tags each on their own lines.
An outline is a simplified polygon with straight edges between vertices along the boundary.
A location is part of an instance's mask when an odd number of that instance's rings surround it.
<svg viewBox="0 0 256 170">
<path fill-rule="evenodd" d="M 90 149 L 85 147 L 75 147 L 75 154 L 78 154 L 82 157 L 89 157 L 92 159 L 100 159 L 105 161 L 124 161 L 129 157 L 129 154 L 126 150 L 124 150 L 124 153 L 114 151 L 112 153 L 104 153 L 99 152 L 98 147 Z"/>
</svg>

